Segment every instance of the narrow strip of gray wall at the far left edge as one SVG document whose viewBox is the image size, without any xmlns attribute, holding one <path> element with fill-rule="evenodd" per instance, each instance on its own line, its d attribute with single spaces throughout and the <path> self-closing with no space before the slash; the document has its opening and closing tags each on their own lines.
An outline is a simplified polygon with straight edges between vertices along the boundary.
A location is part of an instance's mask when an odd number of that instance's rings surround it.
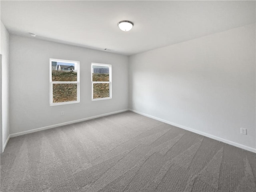
<svg viewBox="0 0 256 192">
<path fill-rule="evenodd" d="M 2 68 L 1 68 L 1 84 L 2 84 L 2 147 L 6 145 L 9 137 L 9 33 L 1 21 L 1 50 Z"/>
</svg>

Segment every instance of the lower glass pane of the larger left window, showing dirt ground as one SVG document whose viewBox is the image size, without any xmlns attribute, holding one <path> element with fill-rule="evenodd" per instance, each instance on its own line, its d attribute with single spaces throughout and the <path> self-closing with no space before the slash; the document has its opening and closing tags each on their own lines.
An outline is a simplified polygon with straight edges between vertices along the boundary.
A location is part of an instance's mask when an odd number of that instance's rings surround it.
<svg viewBox="0 0 256 192">
<path fill-rule="evenodd" d="M 77 100 L 77 83 L 52 84 L 53 103 Z"/>
</svg>

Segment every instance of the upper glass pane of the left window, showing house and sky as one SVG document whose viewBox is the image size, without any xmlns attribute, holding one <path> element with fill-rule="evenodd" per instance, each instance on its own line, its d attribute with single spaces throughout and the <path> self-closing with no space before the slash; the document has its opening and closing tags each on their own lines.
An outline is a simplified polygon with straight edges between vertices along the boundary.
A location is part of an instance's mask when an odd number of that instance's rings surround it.
<svg viewBox="0 0 256 192">
<path fill-rule="evenodd" d="M 77 81 L 77 64 L 52 61 L 52 81 Z"/>
</svg>

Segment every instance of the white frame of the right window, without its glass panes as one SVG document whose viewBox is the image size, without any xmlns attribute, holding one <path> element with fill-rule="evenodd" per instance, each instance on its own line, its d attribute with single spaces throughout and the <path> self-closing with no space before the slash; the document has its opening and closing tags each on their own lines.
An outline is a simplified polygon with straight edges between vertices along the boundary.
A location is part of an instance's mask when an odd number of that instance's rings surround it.
<svg viewBox="0 0 256 192">
<path fill-rule="evenodd" d="M 112 69 L 110 64 L 102 64 L 102 63 L 92 63 L 91 65 L 91 71 L 92 71 L 92 66 L 97 65 L 97 66 L 107 66 L 109 69 L 109 81 L 92 81 L 92 101 L 98 101 L 98 100 L 105 100 L 105 99 L 111 99 L 112 98 Z M 93 71 L 92 71 L 93 72 Z M 91 72 L 91 79 L 92 79 L 92 72 Z M 108 83 L 109 84 L 109 97 L 104 97 L 104 98 L 93 98 L 93 84 L 94 83 Z"/>
</svg>

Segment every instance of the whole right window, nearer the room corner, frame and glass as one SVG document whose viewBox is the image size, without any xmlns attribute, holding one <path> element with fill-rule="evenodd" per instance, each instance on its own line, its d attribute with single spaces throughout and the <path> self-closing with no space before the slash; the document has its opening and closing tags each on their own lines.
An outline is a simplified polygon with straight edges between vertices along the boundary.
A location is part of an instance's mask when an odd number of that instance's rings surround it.
<svg viewBox="0 0 256 192">
<path fill-rule="evenodd" d="M 92 100 L 111 99 L 111 65 L 92 63 Z"/>
</svg>

